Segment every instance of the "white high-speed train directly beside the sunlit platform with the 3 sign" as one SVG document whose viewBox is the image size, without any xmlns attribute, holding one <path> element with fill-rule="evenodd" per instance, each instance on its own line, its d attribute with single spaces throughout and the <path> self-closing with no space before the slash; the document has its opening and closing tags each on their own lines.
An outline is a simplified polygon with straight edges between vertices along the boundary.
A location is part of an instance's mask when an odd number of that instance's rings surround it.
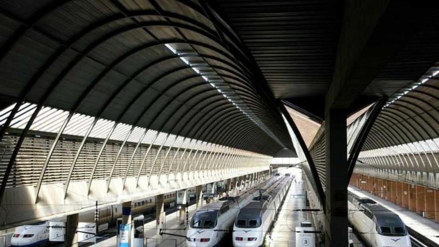
<svg viewBox="0 0 439 247">
<path fill-rule="evenodd" d="M 232 234 L 234 247 L 259 247 L 264 244 L 279 207 L 291 184 L 290 176 L 283 176 L 270 191 L 255 197 L 237 215 Z"/>
</svg>

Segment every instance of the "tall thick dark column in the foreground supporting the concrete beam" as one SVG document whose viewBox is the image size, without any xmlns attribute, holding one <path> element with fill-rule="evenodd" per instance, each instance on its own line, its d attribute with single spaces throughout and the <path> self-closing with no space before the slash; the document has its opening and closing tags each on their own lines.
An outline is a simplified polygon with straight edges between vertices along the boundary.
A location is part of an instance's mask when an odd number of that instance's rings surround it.
<svg viewBox="0 0 439 247">
<path fill-rule="evenodd" d="M 346 112 L 329 109 L 326 138 L 326 247 L 348 246 Z"/>
</svg>

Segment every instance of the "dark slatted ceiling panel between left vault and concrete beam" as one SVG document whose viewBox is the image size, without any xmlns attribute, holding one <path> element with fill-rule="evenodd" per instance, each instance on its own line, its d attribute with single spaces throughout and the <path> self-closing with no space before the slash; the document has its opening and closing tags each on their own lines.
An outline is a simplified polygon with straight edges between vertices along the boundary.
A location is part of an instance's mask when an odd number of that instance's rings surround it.
<svg viewBox="0 0 439 247">
<path fill-rule="evenodd" d="M 332 81 L 337 0 L 216 0 L 276 98 L 323 95 Z"/>
</svg>

